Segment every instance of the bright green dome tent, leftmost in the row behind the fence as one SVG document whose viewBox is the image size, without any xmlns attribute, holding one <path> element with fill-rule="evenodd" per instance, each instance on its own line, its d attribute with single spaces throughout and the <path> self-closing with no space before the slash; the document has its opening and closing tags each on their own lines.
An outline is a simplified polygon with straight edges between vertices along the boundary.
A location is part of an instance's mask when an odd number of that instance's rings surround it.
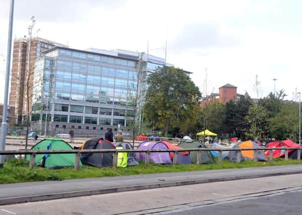
<svg viewBox="0 0 302 215">
<path fill-rule="evenodd" d="M 46 138 L 39 141 L 32 150 L 72 150 L 72 147 L 62 139 Z M 27 155 L 29 160 L 30 156 Z M 73 167 L 75 154 L 37 154 L 35 165 L 45 167 L 47 169 L 57 169 L 64 167 Z M 80 162 L 82 166 L 82 163 Z"/>
</svg>

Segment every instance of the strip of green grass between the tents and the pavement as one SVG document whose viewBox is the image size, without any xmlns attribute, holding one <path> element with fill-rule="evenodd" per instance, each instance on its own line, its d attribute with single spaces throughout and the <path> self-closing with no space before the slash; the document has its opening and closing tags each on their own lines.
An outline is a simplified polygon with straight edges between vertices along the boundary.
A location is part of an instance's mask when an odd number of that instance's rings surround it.
<svg viewBox="0 0 302 215">
<path fill-rule="evenodd" d="M 190 164 L 190 165 L 160 165 L 150 163 L 148 167 L 141 162 L 138 166 L 112 169 L 96 168 L 84 166 L 79 171 L 73 168 L 48 170 L 40 167 L 35 167 L 29 170 L 29 163 L 27 161 L 18 161 L 15 159 L 6 161 L 4 168 L 0 169 L 0 184 L 30 182 L 30 181 L 53 181 L 66 180 L 76 178 L 94 178 L 94 177 L 111 177 L 111 176 L 128 176 L 138 174 L 152 174 L 152 173 L 170 173 L 170 172 L 185 172 L 197 170 L 218 170 L 218 169 L 234 169 L 234 168 L 250 168 L 250 167 L 265 167 L 265 166 L 281 166 L 302 164 L 302 161 L 284 159 L 274 159 L 273 162 L 254 162 L 244 161 L 241 163 L 234 163 L 228 160 L 222 160 L 222 164 Z"/>
</svg>

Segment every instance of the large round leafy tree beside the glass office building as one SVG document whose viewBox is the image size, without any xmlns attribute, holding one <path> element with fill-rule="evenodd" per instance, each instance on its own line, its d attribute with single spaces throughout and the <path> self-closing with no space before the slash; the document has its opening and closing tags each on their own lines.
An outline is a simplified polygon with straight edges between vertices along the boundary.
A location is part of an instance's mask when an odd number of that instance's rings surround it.
<svg viewBox="0 0 302 215">
<path fill-rule="evenodd" d="M 201 94 L 180 68 L 158 68 L 149 75 L 147 84 L 145 117 L 157 127 L 165 129 L 167 137 L 170 125 L 179 127 L 192 117 L 192 111 L 198 105 Z"/>
</svg>

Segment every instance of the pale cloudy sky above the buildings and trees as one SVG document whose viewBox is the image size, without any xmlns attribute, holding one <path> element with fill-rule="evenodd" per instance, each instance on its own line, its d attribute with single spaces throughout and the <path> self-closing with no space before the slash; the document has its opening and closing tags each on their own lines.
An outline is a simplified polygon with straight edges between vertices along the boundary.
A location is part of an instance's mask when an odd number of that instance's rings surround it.
<svg viewBox="0 0 302 215">
<path fill-rule="evenodd" d="M 165 57 L 191 71 L 205 95 L 232 84 L 257 98 L 285 90 L 292 100 L 302 78 L 299 0 L 15 0 L 13 37 L 38 36 L 71 48 L 126 49 Z M 0 0 L 0 102 L 4 100 L 9 0 Z M 35 35 L 36 33 L 34 33 Z M 35 35 L 36 36 L 36 35 Z M 3 57 L 4 56 L 4 57 Z"/>
</svg>

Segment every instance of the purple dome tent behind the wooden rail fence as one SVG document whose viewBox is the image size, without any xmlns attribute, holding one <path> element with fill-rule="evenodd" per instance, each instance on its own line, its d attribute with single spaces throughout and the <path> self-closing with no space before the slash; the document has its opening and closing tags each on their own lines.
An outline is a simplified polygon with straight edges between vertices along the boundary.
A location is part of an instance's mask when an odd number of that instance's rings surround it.
<svg viewBox="0 0 302 215">
<path fill-rule="evenodd" d="M 163 142 L 141 142 L 137 149 L 169 149 Z M 139 155 L 140 154 L 140 155 Z M 136 153 L 136 158 L 139 160 L 145 159 L 145 153 Z M 150 153 L 149 160 L 156 164 L 172 164 L 169 152 L 153 152 Z"/>
</svg>

